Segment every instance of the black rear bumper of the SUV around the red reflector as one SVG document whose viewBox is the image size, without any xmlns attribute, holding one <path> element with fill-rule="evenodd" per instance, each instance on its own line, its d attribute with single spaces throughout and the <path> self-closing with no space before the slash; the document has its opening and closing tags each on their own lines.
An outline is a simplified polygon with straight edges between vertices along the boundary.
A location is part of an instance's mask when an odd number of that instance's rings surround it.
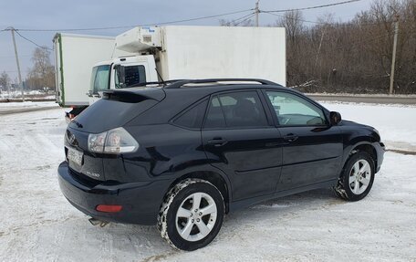
<svg viewBox="0 0 416 262">
<path fill-rule="evenodd" d="M 62 193 L 78 210 L 102 221 L 128 224 L 155 225 L 162 198 L 171 183 L 161 180 L 89 186 L 71 173 L 67 162 L 61 162 L 57 173 Z M 118 204 L 122 209 L 118 213 L 99 212 L 99 204 Z"/>
</svg>

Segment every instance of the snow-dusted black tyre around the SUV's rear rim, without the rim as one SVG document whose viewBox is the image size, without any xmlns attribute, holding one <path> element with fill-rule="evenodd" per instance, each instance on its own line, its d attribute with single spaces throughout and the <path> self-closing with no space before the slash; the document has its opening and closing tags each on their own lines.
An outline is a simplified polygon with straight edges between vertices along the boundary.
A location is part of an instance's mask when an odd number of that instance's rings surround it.
<svg viewBox="0 0 416 262">
<path fill-rule="evenodd" d="M 179 229 L 177 229 L 177 226 L 180 224 L 177 225 L 176 214 L 178 209 L 183 204 L 182 202 L 188 201 L 192 194 L 197 193 L 208 194 L 212 198 L 214 204 L 216 205 L 216 219 L 211 220 L 214 221 L 214 224 L 207 236 L 204 236 L 202 239 L 197 241 L 188 241 L 178 232 Z M 201 201 L 201 203 L 203 203 L 203 201 Z M 209 218 L 211 217 L 212 216 L 209 216 Z M 206 215 L 204 218 L 201 217 L 201 222 L 205 218 Z M 171 246 L 186 251 L 192 251 L 210 244 L 213 241 L 213 238 L 215 238 L 220 231 L 223 221 L 224 198 L 220 191 L 212 183 L 207 181 L 201 179 L 186 179 L 173 186 L 168 194 L 165 195 L 163 204 L 161 204 L 161 211 L 158 215 L 158 229 L 161 232 L 161 237 L 164 238 Z M 182 223 L 186 224 L 187 222 L 188 220 Z M 200 232 L 199 227 L 196 225 L 192 225 L 192 231 Z"/>
</svg>

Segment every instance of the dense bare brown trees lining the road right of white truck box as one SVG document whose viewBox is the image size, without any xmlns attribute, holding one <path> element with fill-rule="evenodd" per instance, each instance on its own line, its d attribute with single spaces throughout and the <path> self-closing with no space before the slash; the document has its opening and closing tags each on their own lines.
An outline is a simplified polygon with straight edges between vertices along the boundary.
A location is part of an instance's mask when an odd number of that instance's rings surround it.
<svg viewBox="0 0 416 262">
<path fill-rule="evenodd" d="M 286 27 L 287 86 L 306 92 L 388 93 L 396 19 L 393 91 L 416 93 L 415 0 L 376 0 L 348 22 L 327 15 L 312 26 L 294 10 L 268 26 Z M 220 20 L 222 26 L 254 26 L 251 20 L 235 24 Z"/>
</svg>

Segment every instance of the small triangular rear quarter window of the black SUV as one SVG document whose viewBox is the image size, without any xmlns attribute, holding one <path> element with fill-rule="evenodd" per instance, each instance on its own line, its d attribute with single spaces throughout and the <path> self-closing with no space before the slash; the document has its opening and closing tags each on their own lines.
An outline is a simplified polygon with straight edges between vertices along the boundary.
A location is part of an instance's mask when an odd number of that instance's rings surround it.
<svg viewBox="0 0 416 262">
<path fill-rule="evenodd" d="M 190 129 L 201 129 L 203 124 L 203 114 L 205 113 L 207 100 L 203 100 L 192 108 L 186 110 L 173 123 Z"/>
</svg>

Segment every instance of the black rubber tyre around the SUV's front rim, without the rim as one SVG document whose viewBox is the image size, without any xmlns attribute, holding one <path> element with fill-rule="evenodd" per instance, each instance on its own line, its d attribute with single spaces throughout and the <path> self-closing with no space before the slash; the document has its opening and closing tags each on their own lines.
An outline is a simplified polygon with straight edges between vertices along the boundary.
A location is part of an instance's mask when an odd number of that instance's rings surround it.
<svg viewBox="0 0 416 262">
<path fill-rule="evenodd" d="M 356 162 L 359 161 L 366 161 L 369 163 L 369 183 L 367 185 L 367 188 L 365 189 L 365 191 L 363 191 L 362 193 L 356 194 L 353 192 L 351 185 L 349 183 L 349 176 L 351 175 L 351 177 L 353 176 L 352 173 L 354 172 L 353 168 L 354 168 L 354 164 L 356 164 Z M 363 176 L 368 176 L 368 174 L 363 174 Z M 375 176 L 375 167 L 374 167 L 374 160 L 371 158 L 371 156 L 369 155 L 368 152 L 354 152 L 353 154 L 351 154 L 348 158 L 348 161 L 346 162 L 344 169 L 341 172 L 341 175 L 339 176 L 338 179 L 338 184 L 337 186 L 334 188 L 335 193 L 347 200 L 347 201 L 359 201 L 361 199 L 363 199 L 367 194 L 369 194 L 369 191 L 371 190 L 372 184 L 374 182 L 374 176 Z M 355 187 L 355 183 L 354 187 Z M 359 183 L 359 185 L 362 185 L 363 183 Z"/>
</svg>

